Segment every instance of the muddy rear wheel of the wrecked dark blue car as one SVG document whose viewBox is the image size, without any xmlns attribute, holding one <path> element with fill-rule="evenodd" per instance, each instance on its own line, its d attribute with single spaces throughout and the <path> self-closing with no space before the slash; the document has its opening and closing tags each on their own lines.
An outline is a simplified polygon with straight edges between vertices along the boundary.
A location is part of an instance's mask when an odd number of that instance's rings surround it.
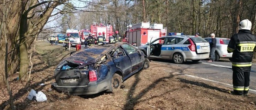
<svg viewBox="0 0 256 110">
<path fill-rule="evenodd" d="M 120 89 L 122 82 L 122 77 L 115 73 L 111 79 L 111 92 L 115 93 L 118 89 Z"/>
</svg>

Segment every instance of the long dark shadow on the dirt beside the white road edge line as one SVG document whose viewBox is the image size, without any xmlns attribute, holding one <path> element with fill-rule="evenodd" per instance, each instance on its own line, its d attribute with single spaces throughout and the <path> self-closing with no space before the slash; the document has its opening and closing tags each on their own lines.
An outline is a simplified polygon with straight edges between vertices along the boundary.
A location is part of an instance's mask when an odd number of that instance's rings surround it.
<svg viewBox="0 0 256 110">
<path fill-rule="evenodd" d="M 195 85 L 195 86 L 201 86 L 201 87 L 204 87 L 207 89 L 213 89 L 213 90 L 218 90 L 220 92 L 228 93 L 227 89 L 218 88 L 218 87 L 211 86 L 209 84 L 205 84 L 205 83 L 202 83 L 199 81 L 187 80 L 187 79 L 183 79 L 183 78 L 177 78 L 177 79 L 182 83 L 191 84 L 191 85 Z"/>
</svg>

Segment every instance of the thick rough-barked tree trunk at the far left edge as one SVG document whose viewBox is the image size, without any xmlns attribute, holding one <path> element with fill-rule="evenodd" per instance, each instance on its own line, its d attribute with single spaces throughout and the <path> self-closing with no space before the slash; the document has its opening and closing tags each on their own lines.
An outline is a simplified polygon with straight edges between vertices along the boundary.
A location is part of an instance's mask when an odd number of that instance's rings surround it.
<svg viewBox="0 0 256 110">
<path fill-rule="evenodd" d="M 25 2 L 25 1 L 23 1 Z M 2 6 L 3 4 L 0 4 L 0 9 L 4 10 L 5 8 Z M 18 0 L 12 0 L 12 3 L 6 5 L 8 8 L 8 11 L 6 12 L 6 35 L 7 35 L 7 42 L 8 42 L 8 74 L 13 74 L 15 72 L 16 68 L 19 65 L 19 51 L 18 51 L 18 43 L 17 40 L 19 39 L 19 21 L 21 18 L 21 14 L 23 12 L 23 9 L 21 8 L 23 4 L 21 2 L 18 2 Z M 6 8 L 6 9 L 7 9 Z M 2 14 L 3 15 L 3 14 Z M 0 14 L 0 17 L 2 18 L 2 15 Z M 3 25 L 3 22 L 0 20 L 0 24 Z M 1 26 L 2 27 L 2 26 Z M 0 30 L 0 37 L 1 39 L 5 38 L 3 34 L 3 30 Z M 0 84 L 3 83 L 3 76 L 5 74 L 5 52 L 6 47 L 5 40 L 0 40 Z"/>
</svg>

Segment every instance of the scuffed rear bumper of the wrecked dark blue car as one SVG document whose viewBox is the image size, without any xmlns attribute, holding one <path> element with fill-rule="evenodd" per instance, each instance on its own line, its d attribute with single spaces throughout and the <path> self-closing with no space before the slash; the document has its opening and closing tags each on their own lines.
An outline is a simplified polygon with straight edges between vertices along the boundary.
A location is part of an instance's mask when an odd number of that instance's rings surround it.
<svg viewBox="0 0 256 110">
<path fill-rule="evenodd" d="M 52 86 L 55 90 L 64 94 L 91 95 L 109 89 L 110 84 L 109 79 L 104 79 L 97 82 L 90 82 L 86 86 L 59 86 L 57 83 L 52 83 Z"/>
</svg>

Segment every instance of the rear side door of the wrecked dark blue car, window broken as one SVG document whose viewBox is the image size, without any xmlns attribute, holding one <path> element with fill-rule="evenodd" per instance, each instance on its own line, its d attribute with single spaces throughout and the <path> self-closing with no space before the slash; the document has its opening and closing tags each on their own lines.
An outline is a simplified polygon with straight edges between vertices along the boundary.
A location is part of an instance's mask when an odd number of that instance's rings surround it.
<svg viewBox="0 0 256 110">
<path fill-rule="evenodd" d="M 112 57 L 116 67 L 123 71 L 124 77 L 132 72 L 130 57 L 120 47 L 113 48 L 108 53 Z"/>
</svg>

